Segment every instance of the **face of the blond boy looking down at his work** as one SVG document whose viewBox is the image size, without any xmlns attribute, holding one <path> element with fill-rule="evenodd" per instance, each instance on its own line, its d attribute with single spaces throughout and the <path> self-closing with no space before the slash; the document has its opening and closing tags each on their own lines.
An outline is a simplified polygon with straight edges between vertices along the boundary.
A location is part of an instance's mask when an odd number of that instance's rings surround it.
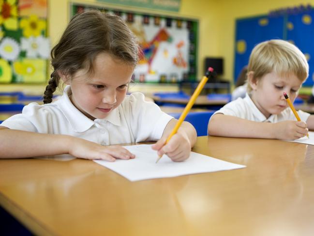
<svg viewBox="0 0 314 236">
<path fill-rule="evenodd" d="M 288 94 L 291 102 L 298 95 L 302 81 L 294 74 L 281 77 L 271 72 L 258 79 L 250 81 L 252 86 L 252 100 L 256 107 L 268 118 L 271 114 L 279 114 L 288 107 L 284 92 Z"/>
</svg>

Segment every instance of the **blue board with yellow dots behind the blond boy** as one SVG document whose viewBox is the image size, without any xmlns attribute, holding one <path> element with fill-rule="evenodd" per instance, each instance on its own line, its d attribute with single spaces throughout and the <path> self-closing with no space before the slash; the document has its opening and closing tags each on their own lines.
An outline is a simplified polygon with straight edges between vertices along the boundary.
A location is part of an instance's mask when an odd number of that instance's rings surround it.
<svg viewBox="0 0 314 236">
<path fill-rule="evenodd" d="M 249 57 L 255 45 L 265 40 L 284 39 L 303 52 L 309 66 L 309 77 L 304 86 L 313 86 L 314 82 L 314 10 L 312 7 L 281 10 L 278 14 L 269 14 L 236 21 L 235 66 L 236 79 L 241 69 L 249 63 Z M 236 82 L 236 81 L 235 81 Z"/>
</svg>

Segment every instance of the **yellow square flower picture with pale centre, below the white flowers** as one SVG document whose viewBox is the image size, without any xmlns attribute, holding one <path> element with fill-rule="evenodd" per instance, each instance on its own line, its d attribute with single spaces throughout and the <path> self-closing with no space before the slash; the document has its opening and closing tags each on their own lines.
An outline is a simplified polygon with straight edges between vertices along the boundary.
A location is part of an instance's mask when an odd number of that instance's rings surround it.
<svg viewBox="0 0 314 236">
<path fill-rule="evenodd" d="M 16 78 L 25 83 L 46 81 L 46 61 L 42 59 L 22 59 L 13 63 Z"/>
</svg>

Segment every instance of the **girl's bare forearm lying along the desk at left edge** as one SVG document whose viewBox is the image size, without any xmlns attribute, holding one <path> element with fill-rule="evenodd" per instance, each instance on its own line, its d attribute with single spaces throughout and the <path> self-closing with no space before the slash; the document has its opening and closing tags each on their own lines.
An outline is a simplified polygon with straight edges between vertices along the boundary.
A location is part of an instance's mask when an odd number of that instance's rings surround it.
<svg viewBox="0 0 314 236">
<path fill-rule="evenodd" d="M 67 154 L 73 138 L 67 135 L 0 129 L 0 158 Z"/>
</svg>

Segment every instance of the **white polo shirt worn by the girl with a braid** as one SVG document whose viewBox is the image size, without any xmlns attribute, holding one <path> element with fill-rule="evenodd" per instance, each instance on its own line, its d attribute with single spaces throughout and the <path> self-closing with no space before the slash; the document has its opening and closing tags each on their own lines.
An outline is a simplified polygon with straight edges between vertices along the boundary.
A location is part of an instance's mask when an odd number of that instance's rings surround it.
<svg viewBox="0 0 314 236">
<path fill-rule="evenodd" d="M 69 86 L 56 102 L 30 103 L 21 114 L 3 121 L 10 129 L 71 135 L 101 145 L 159 140 L 165 126 L 173 119 L 144 95 L 126 95 L 123 102 L 105 119 L 90 120 L 75 108 L 69 99 Z"/>
</svg>

